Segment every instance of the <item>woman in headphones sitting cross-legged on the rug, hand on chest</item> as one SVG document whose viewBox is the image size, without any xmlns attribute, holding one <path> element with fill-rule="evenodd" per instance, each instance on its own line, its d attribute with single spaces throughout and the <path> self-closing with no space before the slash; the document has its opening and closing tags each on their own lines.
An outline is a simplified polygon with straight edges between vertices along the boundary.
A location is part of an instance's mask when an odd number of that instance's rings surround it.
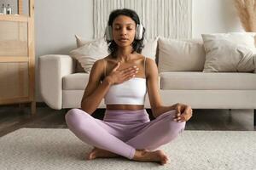
<svg viewBox="0 0 256 170">
<path fill-rule="evenodd" d="M 134 161 L 166 164 L 160 145 L 169 143 L 192 116 L 189 105 L 163 106 L 158 87 L 158 70 L 153 59 L 141 53 L 145 29 L 131 9 L 117 9 L 109 15 L 106 38 L 110 54 L 99 59 L 90 71 L 81 110 L 67 112 L 69 129 L 95 148 L 87 156 L 125 156 Z M 144 109 L 148 91 L 154 121 Z M 105 99 L 103 121 L 90 116 Z"/>
</svg>

